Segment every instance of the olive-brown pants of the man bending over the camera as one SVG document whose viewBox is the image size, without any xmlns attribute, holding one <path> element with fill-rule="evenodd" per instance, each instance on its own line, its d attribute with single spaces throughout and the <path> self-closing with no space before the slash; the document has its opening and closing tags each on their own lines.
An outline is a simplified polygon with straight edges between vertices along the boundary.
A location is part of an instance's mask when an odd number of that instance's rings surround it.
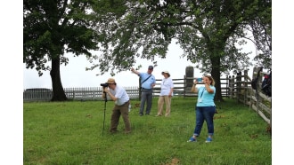
<svg viewBox="0 0 294 165">
<path fill-rule="evenodd" d="M 123 104 L 122 106 L 114 106 L 111 114 L 111 122 L 110 122 L 110 132 L 118 131 L 118 122 L 120 115 L 122 116 L 125 122 L 125 131 L 129 133 L 131 131 L 131 124 L 128 119 L 128 105 L 129 101 Z"/>
</svg>

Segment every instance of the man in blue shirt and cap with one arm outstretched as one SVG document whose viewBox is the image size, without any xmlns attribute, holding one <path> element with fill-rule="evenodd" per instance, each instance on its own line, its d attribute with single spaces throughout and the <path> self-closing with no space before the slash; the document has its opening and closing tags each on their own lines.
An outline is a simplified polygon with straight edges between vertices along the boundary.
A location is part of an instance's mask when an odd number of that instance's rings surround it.
<svg viewBox="0 0 294 165">
<path fill-rule="evenodd" d="M 140 112 L 139 115 L 143 116 L 143 110 L 145 106 L 145 102 L 147 102 L 146 106 L 146 115 L 149 115 L 151 113 L 151 106 L 152 106 L 152 94 L 153 94 L 153 87 L 155 86 L 156 80 L 154 75 L 152 75 L 153 72 L 153 66 L 149 66 L 147 73 L 140 73 L 136 71 L 134 68 L 131 68 L 131 71 L 135 73 L 136 75 L 140 76 L 141 78 L 141 106 L 140 106 Z"/>
</svg>

